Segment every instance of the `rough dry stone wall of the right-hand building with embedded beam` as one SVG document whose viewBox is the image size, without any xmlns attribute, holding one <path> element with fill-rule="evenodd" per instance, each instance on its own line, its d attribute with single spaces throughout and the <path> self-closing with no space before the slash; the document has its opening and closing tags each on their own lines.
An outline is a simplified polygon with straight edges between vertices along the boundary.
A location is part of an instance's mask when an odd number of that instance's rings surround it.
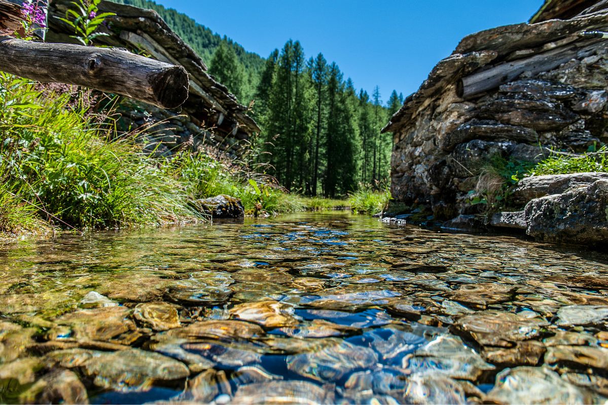
<svg viewBox="0 0 608 405">
<path fill-rule="evenodd" d="M 608 12 L 466 37 L 384 128 L 394 134 L 393 197 L 438 220 L 469 202 L 492 156 L 537 162 L 608 141 Z M 482 91 L 479 91 L 482 89 Z"/>
</svg>

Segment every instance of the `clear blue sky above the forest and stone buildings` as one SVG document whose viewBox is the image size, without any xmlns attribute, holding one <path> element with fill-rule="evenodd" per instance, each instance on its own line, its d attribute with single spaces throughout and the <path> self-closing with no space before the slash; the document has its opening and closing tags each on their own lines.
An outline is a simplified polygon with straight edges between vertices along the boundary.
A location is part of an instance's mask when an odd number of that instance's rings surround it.
<svg viewBox="0 0 608 405">
<path fill-rule="evenodd" d="M 268 57 L 289 38 L 356 88 L 408 95 L 469 33 L 525 22 L 542 0 L 156 0 Z"/>
</svg>

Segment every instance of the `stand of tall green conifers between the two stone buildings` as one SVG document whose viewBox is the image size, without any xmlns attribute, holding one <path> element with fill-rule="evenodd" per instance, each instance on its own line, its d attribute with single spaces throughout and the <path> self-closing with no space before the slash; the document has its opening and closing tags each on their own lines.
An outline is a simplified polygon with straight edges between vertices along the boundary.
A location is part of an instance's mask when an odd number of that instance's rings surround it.
<svg viewBox="0 0 608 405">
<path fill-rule="evenodd" d="M 301 44 L 289 40 L 266 60 L 258 86 L 260 156 L 280 184 L 305 195 L 345 196 L 360 183 L 381 189 L 392 136 L 380 130 L 401 102 L 396 91 L 392 109 L 382 106 L 378 88 L 371 100 L 357 94 L 336 63 L 322 54 L 306 60 Z"/>
</svg>

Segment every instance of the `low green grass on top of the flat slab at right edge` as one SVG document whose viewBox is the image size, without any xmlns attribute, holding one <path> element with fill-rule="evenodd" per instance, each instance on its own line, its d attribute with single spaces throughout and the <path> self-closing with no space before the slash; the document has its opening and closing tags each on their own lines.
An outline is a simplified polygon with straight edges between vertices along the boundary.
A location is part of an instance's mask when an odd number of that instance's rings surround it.
<svg viewBox="0 0 608 405">
<path fill-rule="evenodd" d="M 608 150 L 602 147 L 597 152 L 578 156 L 553 153 L 544 161 L 530 169 L 529 175 L 565 175 L 583 171 L 608 171 Z"/>
</svg>

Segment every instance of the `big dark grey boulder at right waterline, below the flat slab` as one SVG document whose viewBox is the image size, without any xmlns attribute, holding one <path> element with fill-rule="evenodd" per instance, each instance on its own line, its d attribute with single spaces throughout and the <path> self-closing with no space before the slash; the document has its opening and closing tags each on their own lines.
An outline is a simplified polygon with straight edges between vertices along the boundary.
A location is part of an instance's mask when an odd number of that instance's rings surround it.
<svg viewBox="0 0 608 405">
<path fill-rule="evenodd" d="M 608 240 L 608 179 L 533 199 L 526 233 L 539 240 L 596 245 Z"/>
</svg>

